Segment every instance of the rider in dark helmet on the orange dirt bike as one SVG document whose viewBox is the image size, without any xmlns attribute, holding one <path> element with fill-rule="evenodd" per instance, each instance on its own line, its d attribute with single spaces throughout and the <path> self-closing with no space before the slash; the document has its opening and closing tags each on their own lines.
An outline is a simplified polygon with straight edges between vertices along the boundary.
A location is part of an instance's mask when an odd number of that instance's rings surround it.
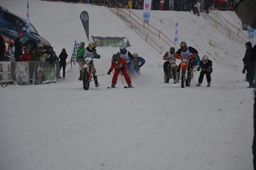
<svg viewBox="0 0 256 170">
<path fill-rule="evenodd" d="M 196 58 L 196 56 L 198 56 L 198 51 L 195 48 L 193 48 L 193 47 L 190 47 L 190 46 L 188 47 L 186 42 L 181 42 L 180 43 L 180 49 L 177 50 L 173 54 L 173 56 L 175 58 L 178 58 L 178 59 L 182 59 L 184 57 L 187 57 L 189 59 L 189 61 L 193 61 Z M 178 73 L 179 72 L 180 72 L 180 64 L 179 64 Z M 193 65 L 191 65 L 190 63 L 188 65 L 188 72 L 191 73 L 191 79 L 193 79 L 193 77 L 194 77 L 193 76 L 193 74 L 194 74 L 194 72 L 193 72 Z M 177 77 L 177 82 L 179 82 L 179 76 Z"/>
</svg>

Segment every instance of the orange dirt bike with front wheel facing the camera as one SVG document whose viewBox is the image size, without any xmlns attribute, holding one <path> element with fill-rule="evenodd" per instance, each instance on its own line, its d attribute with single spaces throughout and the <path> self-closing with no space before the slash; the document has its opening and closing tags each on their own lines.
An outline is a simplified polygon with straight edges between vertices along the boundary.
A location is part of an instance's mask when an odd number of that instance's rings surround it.
<svg viewBox="0 0 256 170">
<path fill-rule="evenodd" d="M 180 76 L 181 76 L 181 78 L 180 78 Z M 190 86 L 191 63 L 189 63 L 188 56 L 182 56 L 182 58 L 181 58 L 179 79 L 180 79 L 181 88 L 184 88 L 185 85 Z"/>
</svg>

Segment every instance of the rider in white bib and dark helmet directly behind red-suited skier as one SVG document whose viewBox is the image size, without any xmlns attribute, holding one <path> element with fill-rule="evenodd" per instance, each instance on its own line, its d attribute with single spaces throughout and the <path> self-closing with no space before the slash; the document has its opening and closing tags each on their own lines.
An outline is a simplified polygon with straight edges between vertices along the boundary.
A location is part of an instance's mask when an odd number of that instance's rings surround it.
<svg viewBox="0 0 256 170">
<path fill-rule="evenodd" d="M 132 63 L 132 54 L 129 52 L 125 46 L 120 46 L 120 51 L 117 53 L 118 56 L 121 58 L 124 58 L 127 64 L 127 69 L 130 75 L 134 74 L 134 68 L 133 68 L 133 63 Z"/>
</svg>

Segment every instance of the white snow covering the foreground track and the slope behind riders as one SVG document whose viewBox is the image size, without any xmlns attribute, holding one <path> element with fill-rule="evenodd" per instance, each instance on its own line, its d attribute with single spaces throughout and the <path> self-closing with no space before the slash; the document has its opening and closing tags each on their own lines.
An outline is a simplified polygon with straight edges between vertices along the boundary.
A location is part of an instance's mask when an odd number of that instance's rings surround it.
<svg viewBox="0 0 256 170">
<path fill-rule="evenodd" d="M 26 1 L 0 0 L 22 17 Z M 99 76 L 84 91 L 78 66 L 67 66 L 65 79 L 55 84 L 7 86 L 0 89 L 0 169 L 253 169 L 253 89 L 246 88 L 242 58 L 244 43 L 229 40 L 211 20 L 189 12 L 150 13 L 150 24 L 186 41 L 213 63 L 212 86 L 164 83 L 163 55 L 145 43 L 104 6 L 29 0 L 30 21 L 54 47 L 69 58 L 74 41 L 86 35 L 79 15 L 90 16 L 90 35 L 126 36 L 146 59 L 135 88 L 107 89 L 112 75 Z M 142 10 L 134 10 L 143 16 Z M 225 15 L 227 13 L 227 15 Z M 222 12 L 239 23 L 234 12 Z M 98 74 L 108 72 L 118 48 L 97 47 Z"/>
</svg>

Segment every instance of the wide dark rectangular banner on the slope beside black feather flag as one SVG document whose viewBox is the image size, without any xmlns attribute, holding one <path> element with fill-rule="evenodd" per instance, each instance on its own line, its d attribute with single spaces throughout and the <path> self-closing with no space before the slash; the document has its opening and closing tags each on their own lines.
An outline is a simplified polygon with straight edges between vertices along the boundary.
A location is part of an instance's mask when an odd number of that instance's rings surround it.
<svg viewBox="0 0 256 170">
<path fill-rule="evenodd" d="M 92 40 L 97 47 L 131 47 L 129 41 L 125 37 L 92 36 Z"/>
</svg>

